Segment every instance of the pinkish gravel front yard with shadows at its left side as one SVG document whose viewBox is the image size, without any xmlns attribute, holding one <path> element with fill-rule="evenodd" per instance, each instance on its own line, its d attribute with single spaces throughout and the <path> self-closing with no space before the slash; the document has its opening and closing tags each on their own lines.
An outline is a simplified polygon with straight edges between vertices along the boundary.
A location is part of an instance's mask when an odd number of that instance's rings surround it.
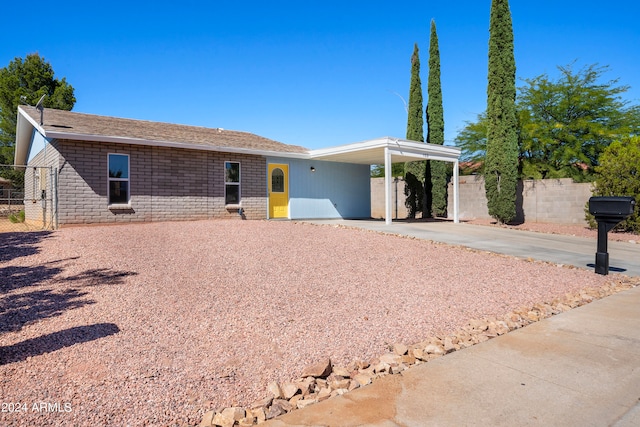
<svg viewBox="0 0 640 427">
<path fill-rule="evenodd" d="M 0 425 L 197 425 L 323 357 L 369 360 L 614 278 L 295 222 L 3 233 Z"/>
</svg>

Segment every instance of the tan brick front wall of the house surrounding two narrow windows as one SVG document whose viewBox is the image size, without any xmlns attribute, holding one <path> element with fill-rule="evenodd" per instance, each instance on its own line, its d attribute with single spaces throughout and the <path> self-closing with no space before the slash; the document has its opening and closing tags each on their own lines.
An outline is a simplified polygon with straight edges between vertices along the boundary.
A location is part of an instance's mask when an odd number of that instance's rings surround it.
<svg viewBox="0 0 640 427">
<path fill-rule="evenodd" d="M 240 219 L 237 208 L 224 203 L 225 161 L 240 163 L 245 218 L 267 216 L 266 159 L 261 156 L 65 140 L 50 145 L 59 153 L 60 225 Z M 108 206 L 108 154 L 129 155 L 130 209 Z"/>
</svg>

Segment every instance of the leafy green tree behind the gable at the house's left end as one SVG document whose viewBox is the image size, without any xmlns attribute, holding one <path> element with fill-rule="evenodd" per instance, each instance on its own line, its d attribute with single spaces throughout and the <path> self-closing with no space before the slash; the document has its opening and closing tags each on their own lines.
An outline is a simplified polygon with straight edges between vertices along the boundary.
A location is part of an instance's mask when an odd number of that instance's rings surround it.
<svg viewBox="0 0 640 427">
<path fill-rule="evenodd" d="M 13 164 L 18 105 L 35 105 L 42 95 L 45 107 L 71 110 L 76 102 L 73 87 L 64 77 L 54 78 L 51 64 L 38 53 L 0 69 L 0 164 Z"/>
</svg>

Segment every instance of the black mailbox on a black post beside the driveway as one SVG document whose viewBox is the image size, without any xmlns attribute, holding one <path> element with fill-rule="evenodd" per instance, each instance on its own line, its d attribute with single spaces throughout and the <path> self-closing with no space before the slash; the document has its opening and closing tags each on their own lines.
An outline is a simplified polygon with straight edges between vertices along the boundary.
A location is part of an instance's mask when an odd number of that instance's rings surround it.
<svg viewBox="0 0 640 427">
<path fill-rule="evenodd" d="M 595 216 L 598 222 L 596 273 L 609 274 L 607 233 L 620 221 L 633 214 L 635 204 L 633 197 L 591 197 L 589 199 L 589 213 Z"/>
</svg>

